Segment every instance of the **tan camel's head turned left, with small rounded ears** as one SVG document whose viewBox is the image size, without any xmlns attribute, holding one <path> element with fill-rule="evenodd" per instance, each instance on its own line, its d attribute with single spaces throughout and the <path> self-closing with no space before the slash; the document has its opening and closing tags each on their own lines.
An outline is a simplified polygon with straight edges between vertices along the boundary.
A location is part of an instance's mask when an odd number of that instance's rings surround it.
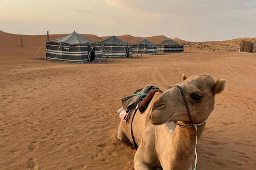
<svg viewBox="0 0 256 170">
<path fill-rule="evenodd" d="M 207 74 L 194 75 L 178 84 L 187 100 L 193 123 L 206 120 L 214 108 L 214 96 L 225 89 L 226 80 L 214 79 Z M 172 87 L 153 101 L 150 122 L 160 125 L 168 121 L 189 123 L 188 112 L 178 87 Z"/>
</svg>

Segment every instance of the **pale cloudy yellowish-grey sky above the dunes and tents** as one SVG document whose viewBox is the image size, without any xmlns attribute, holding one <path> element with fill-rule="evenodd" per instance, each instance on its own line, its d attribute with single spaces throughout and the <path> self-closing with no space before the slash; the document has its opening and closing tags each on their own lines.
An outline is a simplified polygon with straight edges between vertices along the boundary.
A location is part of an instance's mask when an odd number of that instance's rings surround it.
<svg viewBox="0 0 256 170">
<path fill-rule="evenodd" d="M 0 0 L 0 30 L 230 40 L 256 37 L 256 1 Z"/>
</svg>

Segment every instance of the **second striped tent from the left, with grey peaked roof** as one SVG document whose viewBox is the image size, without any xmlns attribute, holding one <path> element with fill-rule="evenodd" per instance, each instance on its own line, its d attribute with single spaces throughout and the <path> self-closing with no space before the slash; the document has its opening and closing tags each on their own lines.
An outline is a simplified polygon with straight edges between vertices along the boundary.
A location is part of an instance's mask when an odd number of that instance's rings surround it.
<svg viewBox="0 0 256 170">
<path fill-rule="evenodd" d="M 101 57 L 106 58 L 125 58 L 132 57 L 130 44 L 113 36 L 104 41 L 97 43 L 100 45 Z"/>
</svg>

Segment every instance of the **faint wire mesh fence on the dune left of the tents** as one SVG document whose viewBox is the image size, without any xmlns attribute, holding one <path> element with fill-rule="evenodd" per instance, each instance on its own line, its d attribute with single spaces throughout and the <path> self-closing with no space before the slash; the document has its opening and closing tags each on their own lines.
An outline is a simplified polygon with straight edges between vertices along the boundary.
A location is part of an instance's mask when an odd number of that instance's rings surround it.
<svg viewBox="0 0 256 170">
<path fill-rule="evenodd" d="M 65 35 L 49 35 L 49 40 L 57 39 Z M 31 47 L 42 46 L 47 40 L 44 36 L 0 36 L 0 47 Z"/>
</svg>

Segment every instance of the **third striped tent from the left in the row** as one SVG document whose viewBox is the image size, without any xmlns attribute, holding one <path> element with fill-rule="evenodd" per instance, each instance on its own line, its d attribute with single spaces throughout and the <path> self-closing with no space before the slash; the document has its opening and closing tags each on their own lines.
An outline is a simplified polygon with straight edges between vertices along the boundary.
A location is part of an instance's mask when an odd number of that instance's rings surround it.
<svg viewBox="0 0 256 170">
<path fill-rule="evenodd" d="M 151 43 L 150 41 L 143 39 L 139 43 L 132 45 L 133 54 L 157 54 L 157 45 Z"/>
</svg>

